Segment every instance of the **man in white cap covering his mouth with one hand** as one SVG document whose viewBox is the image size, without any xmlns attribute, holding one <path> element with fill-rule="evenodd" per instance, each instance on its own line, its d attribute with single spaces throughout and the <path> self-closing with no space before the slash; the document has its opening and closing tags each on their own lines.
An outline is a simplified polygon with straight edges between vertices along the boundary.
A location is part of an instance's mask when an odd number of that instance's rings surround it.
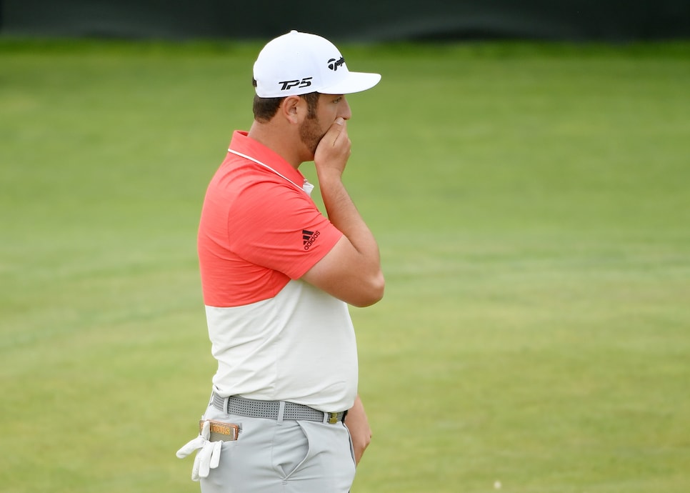
<svg viewBox="0 0 690 493">
<path fill-rule="evenodd" d="M 254 64 L 254 122 L 233 134 L 199 225 L 218 360 L 192 479 L 201 491 L 348 492 L 371 430 L 347 304 L 383 297 L 379 248 L 341 175 L 345 94 L 378 84 L 320 36 L 291 31 Z M 298 171 L 314 161 L 328 219 Z M 345 417 L 346 416 L 346 417 Z"/>
</svg>

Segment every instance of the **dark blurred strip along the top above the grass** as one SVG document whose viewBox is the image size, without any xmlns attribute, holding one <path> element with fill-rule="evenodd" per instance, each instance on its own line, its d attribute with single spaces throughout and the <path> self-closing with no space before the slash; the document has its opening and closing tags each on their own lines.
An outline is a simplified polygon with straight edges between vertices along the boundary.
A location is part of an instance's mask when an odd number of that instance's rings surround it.
<svg viewBox="0 0 690 493">
<path fill-rule="evenodd" d="M 4 36 L 334 41 L 690 38 L 687 0 L 0 0 Z"/>
</svg>

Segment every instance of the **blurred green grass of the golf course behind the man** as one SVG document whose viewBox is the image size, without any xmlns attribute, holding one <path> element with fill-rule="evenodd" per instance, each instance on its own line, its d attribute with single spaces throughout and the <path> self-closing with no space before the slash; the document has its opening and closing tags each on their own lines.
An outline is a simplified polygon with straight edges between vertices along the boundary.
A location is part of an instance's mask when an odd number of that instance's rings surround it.
<svg viewBox="0 0 690 493">
<path fill-rule="evenodd" d="M 259 48 L 0 41 L 1 492 L 198 491 L 196 226 Z M 343 51 L 383 74 L 353 492 L 689 491 L 690 44 Z"/>
</svg>

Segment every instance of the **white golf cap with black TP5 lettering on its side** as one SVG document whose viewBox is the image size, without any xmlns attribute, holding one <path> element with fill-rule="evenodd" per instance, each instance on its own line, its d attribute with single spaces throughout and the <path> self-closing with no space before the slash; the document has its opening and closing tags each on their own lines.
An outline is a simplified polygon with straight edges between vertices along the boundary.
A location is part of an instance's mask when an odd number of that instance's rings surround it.
<svg viewBox="0 0 690 493">
<path fill-rule="evenodd" d="M 351 94 L 379 84 L 379 74 L 351 72 L 331 41 L 297 31 L 269 41 L 254 62 L 256 95 Z"/>
</svg>

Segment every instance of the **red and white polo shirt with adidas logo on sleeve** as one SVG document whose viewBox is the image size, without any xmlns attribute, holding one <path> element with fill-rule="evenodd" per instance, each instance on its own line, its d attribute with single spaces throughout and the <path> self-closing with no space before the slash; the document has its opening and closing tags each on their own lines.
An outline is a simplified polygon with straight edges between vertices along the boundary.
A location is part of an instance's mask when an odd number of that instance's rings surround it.
<svg viewBox="0 0 690 493">
<path fill-rule="evenodd" d="M 206 191 L 198 237 L 214 390 L 349 409 L 357 353 L 347 305 L 299 280 L 342 233 L 281 156 L 241 131 L 228 151 Z"/>
</svg>

